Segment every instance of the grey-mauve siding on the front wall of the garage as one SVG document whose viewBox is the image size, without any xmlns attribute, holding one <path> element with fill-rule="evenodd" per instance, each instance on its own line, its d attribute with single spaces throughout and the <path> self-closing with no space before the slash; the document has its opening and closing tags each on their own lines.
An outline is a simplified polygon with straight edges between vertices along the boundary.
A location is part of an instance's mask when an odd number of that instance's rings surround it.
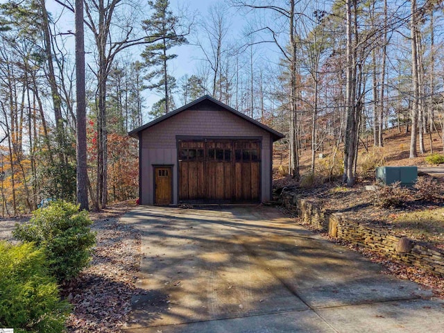
<svg viewBox="0 0 444 333">
<path fill-rule="evenodd" d="M 271 199 L 271 149 L 273 139 L 266 130 L 227 110 L 185 110 L 141 133 L 142 205 L 154 203 L 153 165 L 173 165 L 173 204 L 178 204 L 177 137 L 262 137 L 261 200 Z"/>
</svg>

